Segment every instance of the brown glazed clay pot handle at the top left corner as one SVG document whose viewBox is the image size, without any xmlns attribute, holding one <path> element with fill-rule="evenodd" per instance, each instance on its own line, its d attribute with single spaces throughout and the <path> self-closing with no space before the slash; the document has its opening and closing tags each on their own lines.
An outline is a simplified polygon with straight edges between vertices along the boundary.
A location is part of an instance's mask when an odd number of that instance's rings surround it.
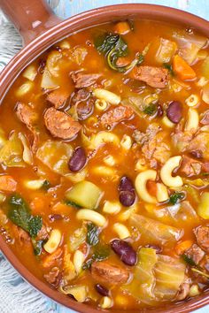
<svg viewBox="0 0 209 313">
<path fill-rule="evenodd" d="M 61 21 L 44 0 L 0 0 L 0 8 L 19 30 L 25 45 Z"/>
</svg>

